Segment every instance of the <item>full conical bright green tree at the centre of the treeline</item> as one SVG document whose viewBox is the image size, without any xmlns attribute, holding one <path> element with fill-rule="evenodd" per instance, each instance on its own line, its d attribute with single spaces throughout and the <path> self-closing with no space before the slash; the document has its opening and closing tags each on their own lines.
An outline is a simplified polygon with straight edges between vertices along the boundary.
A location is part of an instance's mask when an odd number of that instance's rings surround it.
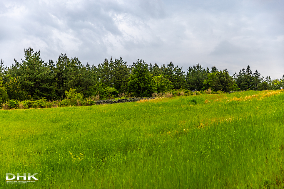
<svg viewBox="0 0 284 189">
<path fill-rule="evenodd" d="M 128 91 L 136 97 L 150 97 L 153 93 L 152 77 L 145 60 L 137 60 L 133 65 Z"/>
</svg>

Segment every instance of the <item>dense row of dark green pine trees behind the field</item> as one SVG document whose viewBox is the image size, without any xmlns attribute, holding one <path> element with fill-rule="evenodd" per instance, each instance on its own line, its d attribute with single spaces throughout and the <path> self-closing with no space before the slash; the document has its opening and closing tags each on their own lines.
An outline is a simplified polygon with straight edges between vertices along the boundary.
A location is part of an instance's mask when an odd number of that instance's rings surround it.
<svg viewBox="0 0 284 189">
<path fill-rule="evenodd" d="M 117 97 L 127 94 L 135 97 L 150 97 L 153 93 L 171 90 L 239 91 L 276 90 L 284 87 L 284 75 L 272 80 L 270 76 L 261 77 L 248 66 L 238 73 L 229 75 L 228 71 L 204 68 L 200 64 L 190 66 L 185 73 L 183 67 L 174 65 L 147 64 L 139 59 L 132 65 L 120 58 L 106 58 L 95 66 L 82 64 L 77 58 L 69 58 L 61 53 L 56 63 L 44 62 L 40 51 L 33 48 L 24 50 L 21 62 L 5 67 L 0 64 L 0 103 L 9 99 L 63 99 L 66 91 L 74 90 L 83 97 L 99 94 L 101 98 Z"/>
</svg>

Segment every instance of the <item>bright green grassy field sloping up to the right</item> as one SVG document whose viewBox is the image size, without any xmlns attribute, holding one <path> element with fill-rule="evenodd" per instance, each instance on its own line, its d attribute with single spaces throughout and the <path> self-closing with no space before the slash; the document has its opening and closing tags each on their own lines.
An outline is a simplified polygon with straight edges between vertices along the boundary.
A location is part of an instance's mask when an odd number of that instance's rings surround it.
<svg viewBox="0 0 284 189">
<path fill-rule="evenodd" d="M 284 188 L 284 91 L 0 111 L 0 188 Z M 6 173 L 39 180 L 6 184 Z"/>
</svg>

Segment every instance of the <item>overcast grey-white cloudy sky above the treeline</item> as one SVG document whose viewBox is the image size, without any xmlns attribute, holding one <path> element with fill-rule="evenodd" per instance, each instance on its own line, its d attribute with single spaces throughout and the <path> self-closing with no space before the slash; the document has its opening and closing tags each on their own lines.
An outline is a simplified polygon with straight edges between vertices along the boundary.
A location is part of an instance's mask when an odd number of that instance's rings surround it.
<svg viewBox="0 0 284 189">
<path fill-rule="evenodd" d="M 121 56 L 231 75 L 250 65 L 282 78 L 284 1 L 0 0 L 0 44 L 5 65 L 31 46 L 45 61 L 61 52 L 94 65 Z"/>
</svg>

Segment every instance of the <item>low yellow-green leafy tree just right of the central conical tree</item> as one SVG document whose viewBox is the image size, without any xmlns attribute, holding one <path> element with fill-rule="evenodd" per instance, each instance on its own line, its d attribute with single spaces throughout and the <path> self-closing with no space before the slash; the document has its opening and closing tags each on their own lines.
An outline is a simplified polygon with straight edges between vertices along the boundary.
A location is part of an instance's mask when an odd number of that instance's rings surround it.
<svg viewBox="0 0 284 189">
<path fill-rule="evenodd" d="M 165 92 L 173 89 L 172 82 L 168 80 L 168 78 L 164 77 L 163 74 L 160 76 L 152 77 L 154 92 Z"/>
</svg>

